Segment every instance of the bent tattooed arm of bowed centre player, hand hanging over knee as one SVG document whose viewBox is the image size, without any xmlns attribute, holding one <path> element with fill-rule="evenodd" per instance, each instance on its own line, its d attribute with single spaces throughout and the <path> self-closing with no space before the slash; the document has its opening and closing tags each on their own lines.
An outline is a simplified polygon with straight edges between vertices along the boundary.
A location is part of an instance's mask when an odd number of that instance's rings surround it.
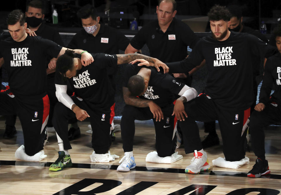
<svg viewBox="0 0 281 195">
<path fill-rule="evenodd" d="M 127 105 L 135 106 L 138 108 L 149 107 L 150 111 L 153 114 L 153 118 L 156 117 L 156 121 L 158 120 L 160 121 L 161 119 L 164 119 L 163 112 L 156 103 L 150 100 L 140 99 L 137 98 L 136 96 L 132 96 L 131 92 L 127 87 L 123 87 L 123 97 Z"/>
</svg>

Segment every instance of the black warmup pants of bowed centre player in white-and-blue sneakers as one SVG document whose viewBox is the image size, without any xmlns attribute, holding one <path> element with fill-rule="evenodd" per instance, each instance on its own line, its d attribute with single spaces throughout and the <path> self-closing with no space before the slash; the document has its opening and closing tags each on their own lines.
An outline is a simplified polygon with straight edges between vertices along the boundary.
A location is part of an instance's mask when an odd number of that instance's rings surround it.
<svg viewBox="0 0 281 195">
<path fill-rule="evenodd" d="M 158 156 L 171 156 L 175 153 L 177 137 L 175 136 L 174 116 L 172 116 L 174 105 L 161 108 L 164 120 L 155 121 L 149 107 L 137 108 L 125 105 L 121 118 L 121 137 L 124 152 L 133 151 L 133 140 L 135 135 L 135 120 L 153 119 L 156 133 L 156 151 Z"/>
</svg>

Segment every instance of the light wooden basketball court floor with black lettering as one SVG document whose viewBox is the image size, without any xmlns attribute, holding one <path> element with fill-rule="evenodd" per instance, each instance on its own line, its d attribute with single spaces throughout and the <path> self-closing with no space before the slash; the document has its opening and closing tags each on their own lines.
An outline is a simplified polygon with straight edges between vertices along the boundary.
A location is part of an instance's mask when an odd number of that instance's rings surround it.
<svg viewBox="0 0 281 195">
<path fill-rule="evenodd" d="M 110 152 L 120 159 L 109 163 L 91 163 L 91 135 L 86 133 L 88 122 L 79 122 L 81 137 L 71 141 L 72 168 L 59 172 L 48 170 L 58 157 L 58 145 L 54 133 L 49 133 L 49 143 L 44 147 L 47 158 L 42 162 L 17 160 L 16 149 L 23 144 L 19 120 L 18 133 L 13 139 L 3 139 L 5 120 L 0 118 L 0 194 L 280 194 L 281 191 L 281 127 L 270 126 L 266 134 L 266 158 L 271 175 L 248 178 L 247 172 L 255 163 L 253 152 L 247 152 L 250 164 L 238 169 L 215 167 L 212 160 L 223 157 L 219 128 L 220 146 L 205 149 L 211 169 L 198 175 L 185 174 L 193 155 L 185 154 L 183 147 L 177 149 L 183 159 L 172 164 L 146 163 L 146 155 L 154 151 L 155 132 L 151 121 L 138 123 L 134 139 L 136 168 L 129 172 L 117 172 L 123 157 L 121 132 Z M 204 139 L 203 123 L 198 123 L 201 140 Z M 165 143 L 163 143 L 165 144 Z"/>
</svg>

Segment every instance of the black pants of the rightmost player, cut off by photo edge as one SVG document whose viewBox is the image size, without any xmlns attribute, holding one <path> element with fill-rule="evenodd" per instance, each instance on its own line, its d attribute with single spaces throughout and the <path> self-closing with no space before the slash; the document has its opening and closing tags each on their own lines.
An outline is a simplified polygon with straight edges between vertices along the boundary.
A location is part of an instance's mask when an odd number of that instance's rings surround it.
<svg viewBox="0 0 281 195">
<path fill-rule="evenodd" d="M 248 123 L 251 132 L 252 148 L 256 156 L 265 155 L 263 127 L 281 122 L 281 108 L 276 103 L 268 103 L 261 112 L 253 111 Z"/>
</svg>

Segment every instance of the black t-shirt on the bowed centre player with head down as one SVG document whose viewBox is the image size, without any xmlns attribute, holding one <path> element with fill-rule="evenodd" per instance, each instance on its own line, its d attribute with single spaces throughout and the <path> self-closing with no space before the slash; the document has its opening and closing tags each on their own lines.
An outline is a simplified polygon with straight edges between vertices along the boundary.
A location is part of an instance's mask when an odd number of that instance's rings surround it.
<svg viewBox="0 0 281 195">
<path fill-rule="evenodd" d="M 124 72 L 123 87 L 128 87 L 128 80 L 131 76 L 137 75 L 141 68 L 146 66 L 137 66 L 128 64 Z M 157 72 L 155 68 L 151 68 L 150 80 L 148 88 L 141 99 L 148 99 L 155 102 L 158 106 L 165 107 L 175 100 L 174 94 L 179 94 L 184 84 L 169 74 L 163 74 L 163 69 Z"/>
</svg>

